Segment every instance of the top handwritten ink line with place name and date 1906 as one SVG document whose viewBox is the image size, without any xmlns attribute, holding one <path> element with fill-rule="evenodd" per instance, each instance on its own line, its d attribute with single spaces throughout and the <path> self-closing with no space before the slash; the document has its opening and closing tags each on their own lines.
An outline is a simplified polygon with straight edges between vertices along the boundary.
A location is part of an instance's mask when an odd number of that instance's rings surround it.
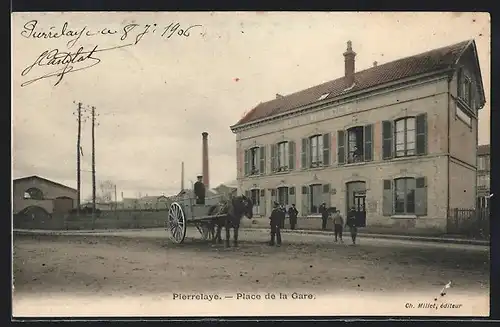
<svg viewBox="0 0 500 327">
<path fill-rule="evenodd" d="M 72 48 L 78 40 L 85 37 L 93 37 L 97 35 L 113 36 L 119 35 L 121 41 L 125 41 L 132 33 L 135 34 L 135 44 L 146 34 L 160 34 L 161 37 L 171 38 L 173 35 L 189 37 L 190 31 L 194 27 L 201 27 L 202 25 L 191 25 L 187 28 L 182 28 L 180 23 L 170 23 L 165 27 L 159 27 L 158 24 L 127 24 L 121 29 L 113 29 L 104 27 L 97 30 L 91 30 L 88 26 L 84 26 L 80 29 L 71 29 L 69 23 L 65 22 L 60 28 L 55 26 L 50 26 L 48 30 L 41 30 L 39 28 L 38 21 L 36 19 L 30 20 L 23 26 L 21 31 L 21 36 L 27 39 L 59 39 L 59 38 L 69 38 L 70 40 L 66 43 L 68 48 Z"/>
</svg>

